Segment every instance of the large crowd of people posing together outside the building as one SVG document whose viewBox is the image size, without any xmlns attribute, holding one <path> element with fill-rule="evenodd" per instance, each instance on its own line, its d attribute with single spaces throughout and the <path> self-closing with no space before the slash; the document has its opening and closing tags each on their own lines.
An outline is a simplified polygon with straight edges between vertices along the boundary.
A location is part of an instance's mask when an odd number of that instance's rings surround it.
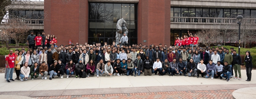
<svg viewBox="0 0 256 99">
<path fill-rule="evenodd" d="M 184 39 L 177 38 L 175 45 L 169 47 L 162 44 L 148 47 L 141 43 L 124 43 L 124 46 L 120 46 L 116 42 L 104 42 L 104 45 L 76 43 L 58 47 L 54 45 L 57 43 L 54 35 L 44 36 L 43 32 L 35 37 L 33 34 L 32 31 L 27 37 L 29 50 L 26 51 L 24 47 L 20 51 L 10 50 L 10 54 L 5 56 L 7 82 L 14 81 L 14 70 L 15 79 L 20 81 L 28 80 L 29 77 L 31 80 L 38 77 L 52 80 L 55 76 L 62 79 L 64 75 L 67 78 L 73 75 L 84 78 L 94 75 L 140 76 L 143 73 L 144 76 L 188 75 L 197 78 L 201 74 L 211 79 L 224 77 L 230 81 L 234 77 L 241 80 L 242 60 L 236 50 L 211 46 L 202 49 L 198 46 L 199 38 L 189 31 L 189 38 L 186 35 Z M 246 63 L 246 81 L 251 81 L 252 56 L 249 51 L 243 61 Z"/>
</svg>

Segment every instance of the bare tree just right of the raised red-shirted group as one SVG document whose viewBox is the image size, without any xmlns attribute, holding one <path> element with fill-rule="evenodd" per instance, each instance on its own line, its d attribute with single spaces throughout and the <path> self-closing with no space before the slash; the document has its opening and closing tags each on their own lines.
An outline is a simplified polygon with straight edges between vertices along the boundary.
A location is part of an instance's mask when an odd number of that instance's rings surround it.
<svg viewBox="0 0 256 99">
<path fill-rule="evenodd" d="M 202 29 L 197 32 L 199 37 L 199 42 L 205 46 L 210 46 L 211 44 L 217 44 L 219 39 L 219 31 L 217 29 Z"/>
</svg>

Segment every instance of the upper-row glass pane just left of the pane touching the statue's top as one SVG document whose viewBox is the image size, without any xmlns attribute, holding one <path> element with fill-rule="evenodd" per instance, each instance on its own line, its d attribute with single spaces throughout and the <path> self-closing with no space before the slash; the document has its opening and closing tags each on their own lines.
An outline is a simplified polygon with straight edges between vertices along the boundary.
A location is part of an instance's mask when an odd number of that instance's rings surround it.
<svg viewBox="0 0 256 99">
<path fill-rule="evenodd" d="M 105 4 L 105 18 L 104 20 L 113 20 L 113 4 Z"/>
</svg>

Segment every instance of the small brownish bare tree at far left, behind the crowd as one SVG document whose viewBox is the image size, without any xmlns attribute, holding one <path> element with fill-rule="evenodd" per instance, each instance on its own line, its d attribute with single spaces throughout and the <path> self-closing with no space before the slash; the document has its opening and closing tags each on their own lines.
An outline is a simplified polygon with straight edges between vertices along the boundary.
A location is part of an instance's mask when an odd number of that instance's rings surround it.
<svg viewBox="0 0 256 99">
<path fill-rule="evenodd" d="M 1 36 L 3 35 L 4 39 L 10 37 L 15 41 L 16 46 L 19 46 L 19 43 L 24 40 L 25 35 L 29 34 L 29 30 L 31 30 L 31 27 L 26 22 L 9 20 L 2 29 Z"/>
</svg>

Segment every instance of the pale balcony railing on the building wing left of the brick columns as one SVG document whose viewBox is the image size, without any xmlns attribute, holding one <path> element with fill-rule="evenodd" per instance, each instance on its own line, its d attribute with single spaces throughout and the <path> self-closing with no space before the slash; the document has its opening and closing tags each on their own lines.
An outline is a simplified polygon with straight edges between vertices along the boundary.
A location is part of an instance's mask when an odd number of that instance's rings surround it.
<svg viewBox="0 0 256 99">
<path fill-rule="evenodd" d="M 20 22 L 26 22 L 28 24 L 44 24 L 44 19 L 3 19 L 1 23 L 8 23 L 11 20 L 18 20 Z"/>
</svg>

